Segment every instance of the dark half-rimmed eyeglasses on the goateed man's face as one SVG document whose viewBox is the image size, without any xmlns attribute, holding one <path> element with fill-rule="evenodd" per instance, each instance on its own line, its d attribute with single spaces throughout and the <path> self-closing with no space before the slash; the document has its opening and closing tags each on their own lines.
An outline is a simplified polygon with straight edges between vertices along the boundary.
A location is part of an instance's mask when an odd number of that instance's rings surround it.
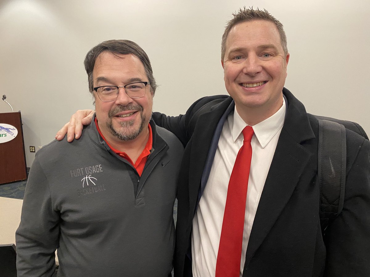
<svg viewBox="0 0 370 277">
<path fill-rule="evenodd" d="M 100 100 L 103 102 L 114 101 L 120 92 L 119 88 L 124 88 L 127 95 L 131 98 L 141 98 L 147 92 L 149 82 L 129 83 L 125 86 L 98 86 L 94 88 Z"/>
</svg>

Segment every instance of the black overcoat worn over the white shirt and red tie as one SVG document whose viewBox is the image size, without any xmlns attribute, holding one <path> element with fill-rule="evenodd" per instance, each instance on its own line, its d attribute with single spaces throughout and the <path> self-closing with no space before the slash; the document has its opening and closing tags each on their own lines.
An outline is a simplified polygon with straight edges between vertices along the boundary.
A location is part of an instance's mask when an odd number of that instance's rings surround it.
<svg viewBox="0 0 370 277">
<path fill-rule="evenodd" d="M 370 142 L 346 130 L 343 211 L 323 235 L 317 119 L 289 90 L 284 88 L 283 94 L 287 113 L 253 222 L 243 276 L 370 276 Z M 187 253 L 192 220 L 232 102 L 225 95 L 210 96 L 195 102 L 185 115 L 153 116 L 186 146 L 177 195 L 176 277 L 191 276 Z"/>
</svg>

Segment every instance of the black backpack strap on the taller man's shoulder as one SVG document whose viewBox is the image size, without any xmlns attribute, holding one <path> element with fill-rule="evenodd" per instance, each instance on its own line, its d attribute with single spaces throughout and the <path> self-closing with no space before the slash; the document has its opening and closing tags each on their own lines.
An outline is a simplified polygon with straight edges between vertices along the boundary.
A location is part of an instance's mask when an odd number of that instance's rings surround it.
<svg viewBox="0 0 370 277">
<path fill-rule="evenodd" d="M 317 176 L 320 184 L 322 231 L 342 211 L 346 184 L 346 129 L 342 124 L 319 119 Z"/>
</svg>

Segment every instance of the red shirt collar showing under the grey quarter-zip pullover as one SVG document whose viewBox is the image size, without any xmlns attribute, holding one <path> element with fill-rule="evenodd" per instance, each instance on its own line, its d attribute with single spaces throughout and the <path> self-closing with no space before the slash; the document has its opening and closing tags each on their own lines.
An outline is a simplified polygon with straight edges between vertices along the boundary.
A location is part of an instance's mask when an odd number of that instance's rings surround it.
<svg viewBox="0 0 370 277">
<path fill-rule="evenodd" d="M 152 149 L 152 144 L 153 144 L 153 135 L 152 135 L 152 127 L 150 126 L 150 124 L 148 124 L 148 129 L 149 129 L 149 138 L 148 138 L 148 141 L 147 141 L 147 144 L 145 145 L 144 147 L 144 150 L 142 150 L 141 154 L 139 155 L 139 157 L 137 158 L 136 160 L 136 163 L 134 164 L 131 160 L 130 157 L 128 157 L 128 155 L 125 153 L 125 152 L 120 152 L 116 149 L 114 149 L 109 143 L 108 141 L 105 139 L 105 137 L 103 136 L 103 134 L 101 133 L 100 129 L 99 129 L 99 126 L 98 126 L 98 120 L 97 118 L 95 117 L 95 125 L 96 125 L 96 128 L 98 129 L 98 132 L 100 134 L 100 136 L 103 138 L 103 140 L 108 144 L 108 146 L 111 148 L 111 150 L 116 153 L 117 155 L 119 155 L 120 157 L 124 158 L 125 160 L 127 160 L 130 164 L 132 164 L 136 171 L 138 172 L 139 176 L 141 176 L 142 174 L 142 171 L 144 170 L 144 166 L 145 166 L 145 163 L 147 162 L 148 160 L 148 156 L 150 154 L 150 150 Z"/>
</svg>

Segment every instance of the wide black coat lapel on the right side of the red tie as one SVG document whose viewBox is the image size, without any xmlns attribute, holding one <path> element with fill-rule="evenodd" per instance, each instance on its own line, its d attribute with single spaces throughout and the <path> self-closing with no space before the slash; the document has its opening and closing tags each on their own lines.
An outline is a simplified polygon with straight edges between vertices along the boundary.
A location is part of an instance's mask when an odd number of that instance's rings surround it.
<svg viewBox="0 0 370 277">
<path fill-rule="evenodd" d="M 283 93 L 288 100 L 288 109 L 253 222 L 245 266 L 289 201 L 312 156 L 302 146 L 303 141 L 314 138 L 305 107 L 289 90 L 284 89 Z"/>
</svg>

